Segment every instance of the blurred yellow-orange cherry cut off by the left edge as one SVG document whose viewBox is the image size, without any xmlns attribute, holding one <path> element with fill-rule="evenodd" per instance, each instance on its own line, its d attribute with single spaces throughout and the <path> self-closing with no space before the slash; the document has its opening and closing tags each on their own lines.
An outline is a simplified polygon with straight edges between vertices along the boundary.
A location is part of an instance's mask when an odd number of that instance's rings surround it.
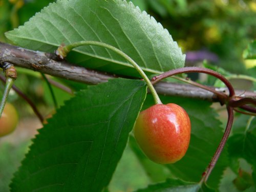
<svg viewBox="0 0 256 192">
<path fill-rule="evenodd" d="M 0 118 L 0 137 L 13 132 L 18 123 L 18 114 L 11 103 L 6 103 Z"/>
</svg>

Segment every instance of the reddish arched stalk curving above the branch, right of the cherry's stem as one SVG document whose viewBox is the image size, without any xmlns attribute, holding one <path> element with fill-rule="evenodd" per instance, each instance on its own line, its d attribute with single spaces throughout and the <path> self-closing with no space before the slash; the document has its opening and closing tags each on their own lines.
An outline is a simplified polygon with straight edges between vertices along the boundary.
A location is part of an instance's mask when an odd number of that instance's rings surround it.
<svg viewBox="0 0 256 192">
<path fill-rule="evenodd" d="M 177 74 L 181 74 L 181 73 L 206 73 L 206 74 L 215 76 L 218 79 L 220 79 L 227 86 L 228 91 L 229 91 L 229 97 L 232 97 L 235 94 L 231 83 L 224 76 L 222 76 L 220 73 L 217 73 L 216 71 L 206 69 L 206 68 L 200 68 L 200 67 L 185 67 L 185 68 L 179 68 L 179 69 L 167 71 L 163 74 L 153 77 L 152 83 L 154 84 L 164 78 L 167 78 L 167 77 L 170 77 L 173 75 L 177 75 Z"/>
</svg>

